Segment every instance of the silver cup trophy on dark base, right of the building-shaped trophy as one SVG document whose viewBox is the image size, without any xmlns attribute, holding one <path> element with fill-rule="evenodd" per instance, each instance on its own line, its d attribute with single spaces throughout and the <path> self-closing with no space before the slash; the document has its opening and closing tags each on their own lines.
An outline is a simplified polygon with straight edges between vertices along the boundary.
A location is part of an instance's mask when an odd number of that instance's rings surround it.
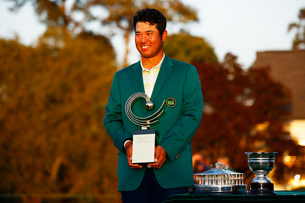
<svg viewBox="0 0 305 203">
<path fill-rule="evenodd" d="M 248 157 L 249 168 L 256 177 L 250 182 L 247 194 L 276 194 L 274 185 L 266 177 L 272 171 L 277 152 L 245 152 Z"/>
</svg>

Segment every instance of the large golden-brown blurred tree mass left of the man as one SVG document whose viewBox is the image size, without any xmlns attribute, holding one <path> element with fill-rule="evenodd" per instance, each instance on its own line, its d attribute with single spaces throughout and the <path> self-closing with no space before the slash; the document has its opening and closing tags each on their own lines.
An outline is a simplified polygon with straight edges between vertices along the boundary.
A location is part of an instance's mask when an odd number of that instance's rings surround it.
<svg viewBox="0 0 305 203">
<path fill-rule="evenodd" d="M 0 40 L 0 192 L 116 191 L 117 150 L 102 124 L 114 50 L 91 33 L 56 49 L 46 37 L 36 48 Z"/>
</svg>

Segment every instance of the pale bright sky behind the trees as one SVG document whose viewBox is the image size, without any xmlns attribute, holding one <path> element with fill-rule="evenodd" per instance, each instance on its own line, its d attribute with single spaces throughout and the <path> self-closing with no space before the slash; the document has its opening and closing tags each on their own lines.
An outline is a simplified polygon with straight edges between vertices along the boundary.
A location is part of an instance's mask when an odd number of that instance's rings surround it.
<svg viewBox="0 0 305 203">
<path fill-rule="evenodd" d="M 299 22 L 299 10 L 305 8 L 304 0 L 181 1 L 197 10 L 199 22 L 168 24 L 168 34 L 177 33 L 182 28 L 194 36 L 203 37 L 214 47 L 220 62 L 226 53 L 231 52 L 238 56 L 238 63 L 245 69 L 255 61 L 257 51 L 291 50 L 295 30 L 288 32 L 288 26 Z M 21 43 L 35 44 L 46 27 L 39 23 L 31 4 L 27 3 L 17 13 L 8 11 L 10 5 L 0 0 L 0 37 L 18 35 Z M 117 57 L 122 58 L 124 50 L 120 45 L 124 44 L 123 38 L 116 36 L 111 42 Z M 129 48 L 128 62 L 135 63 L 140 55 L 133 36 Z"/>
</svg>

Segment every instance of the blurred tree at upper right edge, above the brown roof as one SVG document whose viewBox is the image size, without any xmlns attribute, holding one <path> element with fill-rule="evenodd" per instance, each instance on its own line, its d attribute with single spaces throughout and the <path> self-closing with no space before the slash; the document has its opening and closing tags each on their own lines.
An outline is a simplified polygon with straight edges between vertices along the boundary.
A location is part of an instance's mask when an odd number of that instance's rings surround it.
<svg viewBox="0 0 305 203">
<path fill-rule="evenodd" d="M 293 39 L 292 49 L 305 49 L 305 8 L 300 10 L 299 23 L 292 23 L 288 27 L 288 31 L 296 29 Z"/>
</svg>

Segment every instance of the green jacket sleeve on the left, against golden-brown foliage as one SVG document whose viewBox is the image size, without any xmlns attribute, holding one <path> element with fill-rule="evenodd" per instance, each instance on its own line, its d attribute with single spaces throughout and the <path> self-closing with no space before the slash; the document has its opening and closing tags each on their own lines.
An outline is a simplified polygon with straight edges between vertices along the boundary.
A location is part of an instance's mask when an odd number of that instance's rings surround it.
<svg viewBox="0 0 305 203">
<path fill-rule="evenodd" d="M 121 152 L 125 152 L 123 147 L 126 139 L 131 140 L 131 134 L 123 127 L 121 94 L 117 73 L 113 77 L 110 90 L 110 97 L 106 106 L 106 114 L 104 117 L 104 126 L 107 133 L 113 139 L 113 144 Z"/>
</svg>

